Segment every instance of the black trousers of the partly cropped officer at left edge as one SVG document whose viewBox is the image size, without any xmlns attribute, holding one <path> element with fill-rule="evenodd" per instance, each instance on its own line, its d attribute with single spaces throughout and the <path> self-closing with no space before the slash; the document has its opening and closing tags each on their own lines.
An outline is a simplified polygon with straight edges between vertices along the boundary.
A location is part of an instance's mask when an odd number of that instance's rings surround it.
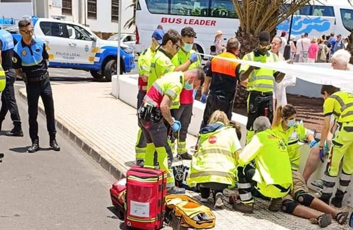
<svg viewBox="0 0 353 230">
<path fill-rule="evenodd" d="M 11 119 L 14 124 L 21 123 L 20 114 L 15 98 L 15 90 L 13 83 L 16 80 L 16 73 L 13 69 L 6 72 L 6 87 L 1 94 L 1 109 L 0 109 L 0 122 L 5 120 L 7 111 L 10 111 Z"/>
</svg>

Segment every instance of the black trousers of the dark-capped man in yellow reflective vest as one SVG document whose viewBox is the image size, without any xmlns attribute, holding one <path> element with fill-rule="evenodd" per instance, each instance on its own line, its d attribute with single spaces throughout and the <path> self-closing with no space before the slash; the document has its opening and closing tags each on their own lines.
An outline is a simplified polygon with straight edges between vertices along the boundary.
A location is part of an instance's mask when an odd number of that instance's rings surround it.
<svg viewBox="0 0 353 230">
<path fill-rule="evenodd" d="M 259 116 L 266 116 L 272 123 L 273 120 L 273 95 L 272 93 L 262 94 L 252 91 L 249 93 L 247 107 L 246 129 L 253 131 L 252 125 Z"/>
</svg>

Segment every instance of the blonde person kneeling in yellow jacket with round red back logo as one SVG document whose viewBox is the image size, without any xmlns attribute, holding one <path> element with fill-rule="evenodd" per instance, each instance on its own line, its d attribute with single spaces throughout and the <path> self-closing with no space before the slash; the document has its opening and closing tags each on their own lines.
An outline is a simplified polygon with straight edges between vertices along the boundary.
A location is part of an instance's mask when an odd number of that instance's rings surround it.
<svg viewBox="0 0 353 230">
<path fill-rule="evenodd" d="M 186 182 L 190 187 L 200 186 L 202 202 L 207 202 L 212 189 L 214 207 L 224 206 L 223 189 L 235 185 L 235 156 L 241 149 L 239 138 L 240 130 L 231 126 L 227 114 L 220 110 L 216 110 L 208 125 L 201 129 L 199 148 L 192 157 Z"/>
</svg>

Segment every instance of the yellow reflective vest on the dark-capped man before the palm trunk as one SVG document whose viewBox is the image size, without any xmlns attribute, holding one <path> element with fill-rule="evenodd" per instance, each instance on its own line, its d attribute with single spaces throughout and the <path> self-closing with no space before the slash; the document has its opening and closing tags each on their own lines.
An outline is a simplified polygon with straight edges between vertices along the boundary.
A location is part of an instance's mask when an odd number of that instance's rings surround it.
<svg viewBox="0 0 353 230">
<path fill-rule="evenodd" d="M 271 63 L 278 61 L 278 56 L 274 53 L 267 52 L 265 55 L 255 56 L 254 52 L 248 53 L 243 60 L 258 61 L 261 63 Z M 245 71 L 248 65 L 242 65 L 240 71 Z M 260 68 L 253 70 L 249 76 L 247 83 L 247 91 L 259 91 L 263 93 L 273 92 L 275 78 L 273 74 L 275 70 Z"/>
</svg>

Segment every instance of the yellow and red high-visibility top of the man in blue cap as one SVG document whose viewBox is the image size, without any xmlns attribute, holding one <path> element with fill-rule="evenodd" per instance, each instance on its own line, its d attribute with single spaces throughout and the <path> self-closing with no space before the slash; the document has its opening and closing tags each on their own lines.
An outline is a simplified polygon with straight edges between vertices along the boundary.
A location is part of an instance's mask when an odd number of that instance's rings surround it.
<svg viewBox="0 0 353 230">
<path fill-rule="evenodd" d="M 147 91 L 147 82 L 144 82 L 141 76 L 144 74 L 150 73 L 150 66 L 151 66 L 153 55 L 154 55 L 154 52 L 152 52 L 151 47 L 148 47 L 138 57 L 138 61 L 137 61 L 138 74 L 139 74 L 138 89 L 143 92 Z"/>
</svg>

